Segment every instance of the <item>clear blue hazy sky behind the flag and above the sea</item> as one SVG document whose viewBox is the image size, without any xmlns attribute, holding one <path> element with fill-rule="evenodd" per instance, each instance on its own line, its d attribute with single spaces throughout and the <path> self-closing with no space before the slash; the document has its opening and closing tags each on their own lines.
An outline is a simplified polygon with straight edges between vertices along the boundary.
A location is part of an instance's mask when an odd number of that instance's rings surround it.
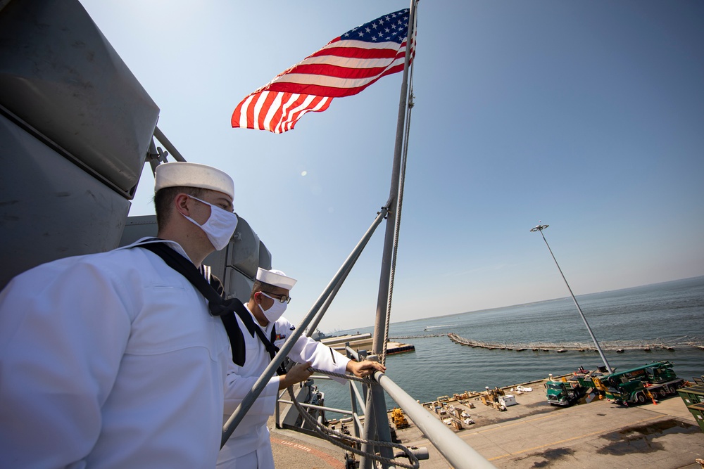
<svg viewBox="0 0 704 469">
<path fill-rule="evenodd" d="M 184 157 L 232 174 L 300 321 L 388 198 L 401 74 L 281 135 L 232 110 L 409 2 L 82 4 Z M 421 1 L 391 321 L 567 296 L 539 220 L 577 295 L 704 275 L 702 25 L 702 1 Z M 383 231 L 322 330 L 374 323 Z"/>
</svg>

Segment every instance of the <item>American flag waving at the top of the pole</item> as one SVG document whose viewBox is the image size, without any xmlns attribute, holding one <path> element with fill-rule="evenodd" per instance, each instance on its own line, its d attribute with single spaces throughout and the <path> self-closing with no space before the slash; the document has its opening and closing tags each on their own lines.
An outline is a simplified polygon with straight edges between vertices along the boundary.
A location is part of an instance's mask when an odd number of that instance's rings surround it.
<svg viewBox="0 0 704 469">
<path fill-rule="evenodd" d="M 400 72 L 408 15 L 408 8 L 389 13 L 332 39 L 244 98 L 232 113 L 232 127 L 281 134 L 304 114 L 326 110 L 332 98 L 358 94 L 379 78 Z M 412 39 L 412 58 L 414 49 Z"/>
</svg>

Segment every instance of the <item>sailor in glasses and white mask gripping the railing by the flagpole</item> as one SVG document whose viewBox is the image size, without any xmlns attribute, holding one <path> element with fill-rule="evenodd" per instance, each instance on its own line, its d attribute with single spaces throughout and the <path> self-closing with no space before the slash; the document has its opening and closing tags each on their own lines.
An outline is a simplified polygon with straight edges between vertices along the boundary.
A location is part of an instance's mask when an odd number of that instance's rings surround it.
<svg viewBox="0 0 704 469">
<path fill-rule="evenodd" d="M 278 349 L 296 329 L 282 316 L 291 301 L 289 293 L 295 284 L 296 280 L 282 271 L 261 268 L 257 270 L 249 302 L 244 304 L 247 316 L 237 316 L 244 335 L 246 353 L 244 366 L 231 364 L 230 370 L 227 371 L 224 422 L 227 422 L 270 364 L 272 354 L 267 350 L 265 342 L 271 342 Z M 288 357 L 297 363 L 285 373 L 284 370 L 279 370 L 279 373 L 283 374 L 269 380 L 220 450 L 219 469 L 274 469 L 267 420 L 269 416 L 274 415 L 279 390 L 307 380 L 312 374 L 308 369 L 311 366 L 338 374 L 349 371 L 360 378 L 375 371 L 386 370 L 386 367 L 375 361 L 350 360 L 327 345 L 304 335 L 296 340 L 296 345 Z M 332 378 L 339 383 L 346 383 L 344 378 Z"/>
</svg>

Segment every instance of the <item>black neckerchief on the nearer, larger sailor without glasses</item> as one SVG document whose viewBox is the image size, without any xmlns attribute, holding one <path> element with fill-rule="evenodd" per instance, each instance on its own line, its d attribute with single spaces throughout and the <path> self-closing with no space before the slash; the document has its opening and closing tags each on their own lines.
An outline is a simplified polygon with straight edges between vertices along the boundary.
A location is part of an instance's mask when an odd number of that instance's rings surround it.
<svg viewBox="0 0 704 469">
<path fill-rule="evenodd" d="M 215 288 L 213 288 L 208 281 L 201 275 L 201 272 L 196 269 L 196 266 L 180 255 L 175 250 L 169 248 L 165 245 L 163 240 L 158 238 L 152 238 L 151 240 L 159 240 L 161 243 L 143 243 L 138 244 L 139 248 L 144 248 L 150 250 L 154 254 L 158 255 L 163 259 L 163 261 L 170 266 L 172 269 L 182 274 L 200 293 L 203 297 L 208 300 L 208 310 L 211 316 L 220 316 L 223 326 L 227 331 L 227 337 L 230 338 L 230 347 L 232 347 L 232 361 L 239 366 L 244 366 L 245 360 L 245 350 L 244 350 L 244 335 L 237 324 L 237 319 L 235 319 L 233 311 L 237 309 L 244 309 L 244 305 L 237 298 L 231 298 L 230 300 L 225 300 L 222 298 L 221 294 L 218 293 Z M 213 281 L 211 276 L 210 280 Z M 220 281 L 218 280 L 218 283 Z M 220 284 L 222 288 L 222 284 Z M 245 310 L 246 311 L 246 310 Z M 238 313 L 238 316 L 243 315 Z M 249 316 L 249 312 L 247 313 Z M 244 319 L 243 319 L 244 321 Z M 251 321 L 251 317 L 250 317 Z M 253 321 L 252 325 L 253 325 Z M 250 326 L 244 321 L 247 329 L 253 334 Z"/>
</svg>

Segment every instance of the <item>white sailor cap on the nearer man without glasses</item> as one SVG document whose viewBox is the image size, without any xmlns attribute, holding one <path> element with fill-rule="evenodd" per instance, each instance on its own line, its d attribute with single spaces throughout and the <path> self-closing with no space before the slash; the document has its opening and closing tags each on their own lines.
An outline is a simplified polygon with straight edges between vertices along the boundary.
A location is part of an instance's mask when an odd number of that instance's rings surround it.
<svg viewBox="0 0 704 469">
<path fill-rule="evenodd" d="M 163 163 L 156 167 L 154 193 L 165 187 L 199 187 L 230 195 L 234 199 L 234 181 L 214 167 L 191 162 Z"/>
</svg>

